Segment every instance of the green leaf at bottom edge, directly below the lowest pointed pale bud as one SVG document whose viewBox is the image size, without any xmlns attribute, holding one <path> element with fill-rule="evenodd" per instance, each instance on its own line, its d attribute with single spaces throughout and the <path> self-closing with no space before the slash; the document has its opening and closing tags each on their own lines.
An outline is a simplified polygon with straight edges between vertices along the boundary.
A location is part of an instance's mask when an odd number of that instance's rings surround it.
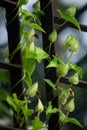
<svg viewBox="0 0 87 130">
<path fill-rule="evenodd" d="M 43 128 L 43 123 L 40 121 L 39 117 L 35 117 L 32 121 L 33 130 L 39 130 Z"/>
</svg>

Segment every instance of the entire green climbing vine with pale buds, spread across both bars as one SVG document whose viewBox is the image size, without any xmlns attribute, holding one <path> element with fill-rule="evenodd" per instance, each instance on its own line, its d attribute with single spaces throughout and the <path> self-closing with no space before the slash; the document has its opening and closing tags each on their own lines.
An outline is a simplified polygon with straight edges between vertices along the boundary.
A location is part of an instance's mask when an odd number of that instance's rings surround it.
<svg viewBox="0 0 87 130">
<path fill-rule="evenodd" d="M 20 81 L 23 80 L 24 83 L 27 85 L 22 93 L 25 95 L 25 100 L 20 100 L 19 97 L 17 97 L 16 93 L 11 94 L 11 92 L 9 93 L 3 89 L 0 89 L 0 99 L 6 101 L 11 106 L 16 119 L 15 123 L 19 122 L 20 128 L 23 127 L 23 124 L 27 122 L 28 118 L 30 119 L 30 116 L 32 116 L 34 113 L 34 119 L 31 120 L 31 124 L 28 124 L 28 126 L 32 126 L 32 130 L 40 130 L 41 128 L 47 127 L 46 125 L 43 125 L 43 122 L 40 119 L 40 114 L 43 111 L 45 111 L 48 121 L 51 114 L 58 113 L 59 124 L 64 125 L 68 122 L 71 122 L 83 128 L 79 121 L 69 117 L 69 113 L 73 112 L 75 109 L 75 93 L 72 89 L 72 85 L 77 85 L 79 83 L 79 78 L 82 78 L 82 69 L 76 64 L 71 63 L 70 61 L 73 53 L 78 53 L 79 51 L 79 40 L 75 36 L 70 34 L 63 43 L 63 56 L 58 57 L 55 55 L 51 59 L 47 52 L 45 52 L 41 47 L 35 45 L 35 38 L 38 38 L 36 30 L 45 33 L 44 29 L 41 27 L 40 22 L 41 16 L 44 15 L 44 12 L 41 11 L 39 8 L 40 1 L 38 0 L 36 3 L 34 3 L 34 12 L 29 12 L 22 8 L 22 5 L 27 4 L 27 2 L 27 0 L 18 1 L 17 6 L 19 6 L 18 13 L 20 16 L 21 39 L 17 48 L 10 55 L 9 59 L 12 60 L 14 54 L 19 49 L 21 49 L 23 78 L 20 79 Z M 62 19 L 73 23 L 80 30 L 80 26 L 74 17 L 76 13 L 76 6 L 68 8 L 65 12 L 58 10 L 58 13 Z M 48 37 L 50 41 L 49 53 L 51 45 L 57 40 L 57 38 L 57 31 L 53 30 L 53 32 Z M 70 56 L 65 61 L 64 59 L 67 51 L 70 51 Z M 57 81 L 55 81 L 55 83 L 53 83 L 50 79 L 44 79 L 44 81 L 47 82 L 52 88 L 54 97 L 58 97 L 59 107 L 57 108 L 53 107 L 52 100 L 48 102 L 46 107 L 43 105 L 40 92 L 38 91 L 38 82 L 32 82 L 32 74 L 36 68 L 36 62 L 40 64 L 45 59 L 49 60 L 49 64 L 47 65 L 46 69 L 50 69 L 52 67 L 56 69 Z M 62 77 L 67 76 L 70 70 L 73 70 L 74 73 L 68 78 L 70 84 L 65 87 L 64 85 L 60 84 L 60 80 Z M 8 82 L 8 72 L 6 72 L 5 70 L 0 70 L 0 73 L 3 75 L 3 77 L 0 76 L 0 80 Z M 15 87 L 17 87 L 17 84 L 15 85 Z M 32 98 L 37 99 L 37 105 L 34 109 L 29 108 L 29 106 L 31 106 L 32 104 Z"/>
</svg>

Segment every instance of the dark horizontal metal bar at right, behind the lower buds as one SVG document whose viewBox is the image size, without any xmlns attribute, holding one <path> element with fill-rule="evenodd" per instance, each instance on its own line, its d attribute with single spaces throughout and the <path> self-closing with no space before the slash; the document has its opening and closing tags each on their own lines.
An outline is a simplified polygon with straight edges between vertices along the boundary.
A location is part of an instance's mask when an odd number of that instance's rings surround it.
<svg viewBox="0 0 87 130">
<path fill-rule="evenodd" d="M 64 83 L 64 84 L 70 84 L 68 79 L 69 79 L 68 77 L 63 77 L 63 78 L 61 78 L 60 82 Z M 80 87 L 83 89 L 87 89 L 87 82 L 80 80 L 79 83 L 77 85 L 74 85 L 74 86 L 77 86 L 77 87 Z"/>
</svg>

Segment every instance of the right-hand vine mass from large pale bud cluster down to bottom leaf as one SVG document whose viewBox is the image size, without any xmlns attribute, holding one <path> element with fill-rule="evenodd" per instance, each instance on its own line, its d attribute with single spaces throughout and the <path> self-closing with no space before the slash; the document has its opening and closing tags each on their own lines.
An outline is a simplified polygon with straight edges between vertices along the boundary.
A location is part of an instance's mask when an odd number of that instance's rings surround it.
<svg viewBox="0 0 87 130">
<path fill-rule="evenodd" d="M 52 33 L 50 34 L 50 36 L 52 35 Z M 72 89 L 72 86 L 77 85 L 79 83 L 79 78 L 82 78 L 82 69 L 76 64 L 71 63 L 70 61 L 72 54 L 77 53 L 79 50 L 78 39 L 73 35 L 69 35 L 63 43 L 63 48 L 65 49 L 65 52 L 71 52 L 68 59 L 66 61 L 64 60 L 66 56 L 66 53 L 64 52 L 64 55 L 61 56 L 63 58 L 53 56 L 47 66 L 48 69 L 52 67 L 56 69 L 57 81 L 53 83 L 50 79 L 45 79 L 45 82 L 47 82 L 52 88 L 54 97 L 58 97 L 59 108 L 52 109 L 52 104 L 49 102 L 46 113 L 48 118 L 52 113 L 59 113 L 59 124 L 61 125 L 70 122 L 83 128 L 78 120 L 68 117 L 69 113 L 75 110 L 75 93 Z M 73 74 L 68 77 L 69 85 L 67 85 L 67 87 L 65 85 L 61 85 L 61 78 L 67 76 L 70 70 L 73 71 Z"/>
</svg>

